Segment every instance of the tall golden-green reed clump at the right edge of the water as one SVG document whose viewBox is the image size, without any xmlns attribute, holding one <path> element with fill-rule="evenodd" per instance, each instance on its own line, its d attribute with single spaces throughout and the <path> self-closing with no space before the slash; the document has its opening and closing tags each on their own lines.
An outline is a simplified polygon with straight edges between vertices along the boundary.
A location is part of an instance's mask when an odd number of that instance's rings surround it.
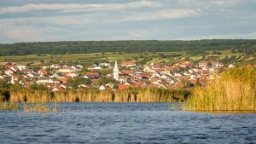
<svg viewBox="0 0 256 144">
<path fill-rule="evenodd" d="M 206 87 L 197 87 L 183 109 L 191 111 L 256 111 L 255 68 L 234 68 Z"/>
</svg>

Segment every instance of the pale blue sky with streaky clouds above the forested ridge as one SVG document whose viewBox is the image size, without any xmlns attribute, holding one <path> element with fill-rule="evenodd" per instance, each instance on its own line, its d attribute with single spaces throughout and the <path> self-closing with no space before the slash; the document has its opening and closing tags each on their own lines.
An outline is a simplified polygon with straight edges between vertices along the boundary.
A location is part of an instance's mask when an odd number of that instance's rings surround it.
<svg viewBox="0 0 256 144">
<path fill-rule="evenodd" d="M 0 0 L 0 43 L 255 39 L 256 0 Z"/>
</svg>

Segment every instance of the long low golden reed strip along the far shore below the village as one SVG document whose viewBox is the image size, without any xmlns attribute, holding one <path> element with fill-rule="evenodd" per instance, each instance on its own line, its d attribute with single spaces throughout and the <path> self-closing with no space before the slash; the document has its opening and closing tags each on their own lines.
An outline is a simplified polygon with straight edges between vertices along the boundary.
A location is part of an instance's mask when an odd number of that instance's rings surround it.
<svg viewBox="0 0 256 144">
<path fill-rule="evenodd" d="M 47 90 L 9 91 L 9 101 L 42 102 L 173 102 L 184 101 L 189 90 L 182 89 L 126 89 L 126 90 L 69 90 L 50 92 Z"/>
</svg>

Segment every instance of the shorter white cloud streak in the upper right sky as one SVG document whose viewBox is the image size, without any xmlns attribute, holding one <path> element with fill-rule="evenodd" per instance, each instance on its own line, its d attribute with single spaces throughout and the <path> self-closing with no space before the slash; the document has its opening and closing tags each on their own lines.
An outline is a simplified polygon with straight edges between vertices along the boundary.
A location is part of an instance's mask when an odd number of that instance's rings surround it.
<svg viewBox="0 0 256 144">
<path fill-rule="evenodd" d="M 189 17 L 200 13 L 200 9 L 165 9 L 155 12 L 136 14 L 126 17 L 124 20 L 163 20 Z"/>
</svg>

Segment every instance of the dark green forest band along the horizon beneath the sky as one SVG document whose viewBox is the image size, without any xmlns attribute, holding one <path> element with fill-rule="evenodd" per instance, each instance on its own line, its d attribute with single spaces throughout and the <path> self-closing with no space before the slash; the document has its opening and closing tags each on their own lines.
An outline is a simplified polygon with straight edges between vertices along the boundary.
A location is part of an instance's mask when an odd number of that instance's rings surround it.
<svg viewBox="0 0 256 144">
<path fill-rule="evenodd" d="M 203 54 L 206 50 L 232 49 L 253 54 L 256 40 L 212 39 L 195 41 L 62 41 L 0 44 L 0 55 L 66 55 L 102 52 L 170 52 L 187 51 L 189 54 Z"/>
</svg>

